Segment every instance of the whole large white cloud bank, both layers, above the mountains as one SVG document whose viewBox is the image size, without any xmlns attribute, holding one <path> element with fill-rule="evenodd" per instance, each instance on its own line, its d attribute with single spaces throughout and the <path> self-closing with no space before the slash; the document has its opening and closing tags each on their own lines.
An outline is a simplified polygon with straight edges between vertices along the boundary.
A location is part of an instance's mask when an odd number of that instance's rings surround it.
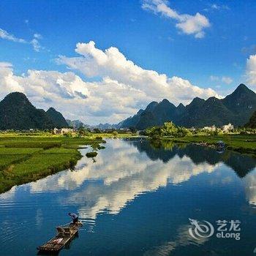
<svg viewBox="0 0 256 256">
<path fill-rule="evenodd" d="M 80 118 L 89 124 L 116 123 L 149 102 L 166 98 L 174 104 L 189 103 L 194 97 L 218 97 L 213 89 L 201 89 L 189 80 L 168 78 L 154 70 L 143 69 L 128 60 L 118 48 L 96 48 L 93 41 L 78 43 L 80 56 L 60 56 L 59 64 L 81 72 L 90 82 L 75 72 L 29 69 L 15 75 L 11 64 L 0 64 L 0 97 L 11 91 L 22 91 L 37 108 L 50 106 L 66 118 Z M 91 81 L 92 80 L 92 81 Z"/>
</svg>

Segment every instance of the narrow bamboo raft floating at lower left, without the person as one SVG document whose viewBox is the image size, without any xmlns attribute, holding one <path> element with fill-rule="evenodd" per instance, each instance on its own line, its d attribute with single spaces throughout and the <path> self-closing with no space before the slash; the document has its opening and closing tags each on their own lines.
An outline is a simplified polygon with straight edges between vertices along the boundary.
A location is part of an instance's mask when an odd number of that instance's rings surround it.
<svg viewBox="0 0 256 256">
<path fill-rule="evenodd" d="M 39 252 L 43 253 L 57 253 L 59 252 L 66 244 L 69 244 L 70 241 L 78 234 L 78 229 L 83 224 L 78 222 L 77 224 L 69 223 L 68 225 L 56 227 L 57 235 L 51 238 L 45 244 L 37 247 Z"/>
</svg>

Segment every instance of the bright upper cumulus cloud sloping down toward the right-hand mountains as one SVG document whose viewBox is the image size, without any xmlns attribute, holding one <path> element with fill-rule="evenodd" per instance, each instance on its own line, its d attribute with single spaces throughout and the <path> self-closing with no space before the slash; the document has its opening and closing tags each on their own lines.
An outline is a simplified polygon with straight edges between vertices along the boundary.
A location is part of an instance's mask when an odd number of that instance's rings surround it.
<svg viewBox="0 0 256 256">
<path fill-rule="evenodd" d="M 87 77 L 102 77 L 116 80 L 129 88 L 143 92 L 147 100 L 169 99 L 178 104 L 189 102 L 193 97 L 217 96 L 212 89 L 201 89 L 193 86 L 189 80 L 173 76 L 168 78 L 154 70 L 143 69 L 128 60 L 118 48 L 106 50 L 96 48 L 93 41 L 78 43 L 75 49 L 78 57 L 60 56 L 59 64 L 65 64 L 70 69 L 79 70 Z M 139 99 L 137 99 L 139 101 Z"/>
</svg>

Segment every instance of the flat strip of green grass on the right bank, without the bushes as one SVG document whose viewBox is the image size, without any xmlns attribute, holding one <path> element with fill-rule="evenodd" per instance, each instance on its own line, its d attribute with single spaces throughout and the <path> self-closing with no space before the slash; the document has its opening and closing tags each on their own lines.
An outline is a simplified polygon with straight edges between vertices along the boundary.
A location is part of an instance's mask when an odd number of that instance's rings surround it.
<svg viewBox="0 0 256 256">
<path fill-rule="evenodd" d="M 222 140 L 225 142 L 227 149 L 256 157 L 256 135 L 188 136 L 184 138 L 163 138 L 163 140 L 172 140 L 175 143 L 207 143 L 208 145 Z"/>
</svg>

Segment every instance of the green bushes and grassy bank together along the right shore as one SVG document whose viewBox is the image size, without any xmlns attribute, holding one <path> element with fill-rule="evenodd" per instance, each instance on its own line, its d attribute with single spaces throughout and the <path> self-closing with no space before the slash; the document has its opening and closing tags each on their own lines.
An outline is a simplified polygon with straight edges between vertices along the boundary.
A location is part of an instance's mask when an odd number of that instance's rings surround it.
<svg viewBox="0 0 256 256">
<path fill-rule="evenodd" d="M 256 129 L 239 128 L 222 132 L 217 127 L 215 130 L 187 129 L 176 127 L 172 122 L 165 122 L 162 127 L 146 129 L 145 134 L 155 145 L 173 142 L 215 147 L 218 141 L 222 141 L 226 149 L 256 157 Z"/>
</svg>

